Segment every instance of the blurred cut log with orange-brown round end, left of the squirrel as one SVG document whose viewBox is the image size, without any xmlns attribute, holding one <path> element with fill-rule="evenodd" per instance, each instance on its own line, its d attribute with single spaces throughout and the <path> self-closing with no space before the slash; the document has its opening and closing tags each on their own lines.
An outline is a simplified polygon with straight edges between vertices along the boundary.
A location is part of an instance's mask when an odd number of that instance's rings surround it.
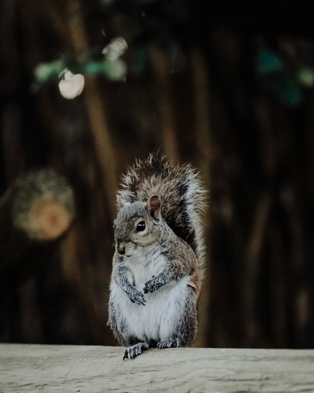
<svg viewBox="0 0 314 393">
<path fill-rule="evenodd" d="M 51 169 L 29 171 L 0 199 L 0 303 L 36 274 L 75 214 L 71 187 Z"/>
</svg>

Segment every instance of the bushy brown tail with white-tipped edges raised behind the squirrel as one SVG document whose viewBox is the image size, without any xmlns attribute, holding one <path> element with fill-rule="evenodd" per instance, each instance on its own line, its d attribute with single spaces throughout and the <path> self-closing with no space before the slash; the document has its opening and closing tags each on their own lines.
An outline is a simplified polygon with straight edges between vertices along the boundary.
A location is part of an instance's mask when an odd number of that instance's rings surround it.
<svg viewBox="0 0 314 393">
<path fill-rule="evenodd" d="M 136 160 L 122 176 L 119 195 L 123 202 L 145 202 L 152 195 L 161 199 L 161 214 L 175 234 L 190 244 L 199 261 L 205 264 L 204 220 L 205 190 L 199 173 L 190 164 L 175 166 L 165 157 L 152 154 Z"/>
</svg>

